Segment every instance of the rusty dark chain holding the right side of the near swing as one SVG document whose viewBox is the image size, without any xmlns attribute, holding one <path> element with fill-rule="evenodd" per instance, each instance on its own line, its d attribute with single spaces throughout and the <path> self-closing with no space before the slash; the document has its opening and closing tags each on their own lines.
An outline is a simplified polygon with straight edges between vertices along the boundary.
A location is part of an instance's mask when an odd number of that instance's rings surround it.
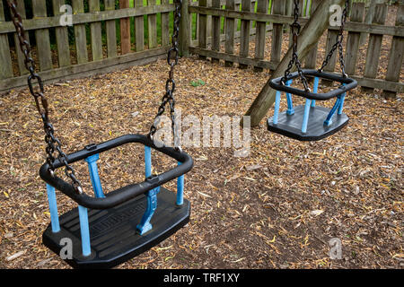
<svg viewBox="0 0 404 287">
<path fill-rule="evenodd" d="M 175 0 L 175 11 L 174 11 L 174 31 L 172 34 L 171 42 L 172 47 L 168 51 L 167 62 L 170 65 L 170 73 L 167 82 L 165 83 L 165 93 L 162 97 L 162 103 L 158 109 L 157 115 L 154 117 L 154 122 L 150 127 L 150 132 L 148 134 L 149 138 L 153 140 L 153 136 L 157 131 L 156 125 L 158 125 L 159 117 L 165 111 L 165 106 L 167 103 L 170 105 L 170 116 L 171 116 L 171 130 L 174 139 L 174 147 L 176 149 L 180 149 L 180 139 L 178 136 L 178 128 L 175 121 L 175 99 L 174 99 L 174 91 L 175 91 L 175 81 L 174 81 L 174 67 L 178 64 L 180 58 L 180 49 L 179 49 L 179 37 L 180 37 L 180 19 L 181 19 L 181 8 L 182 8 L 182 0 Z"/>
</svg>

